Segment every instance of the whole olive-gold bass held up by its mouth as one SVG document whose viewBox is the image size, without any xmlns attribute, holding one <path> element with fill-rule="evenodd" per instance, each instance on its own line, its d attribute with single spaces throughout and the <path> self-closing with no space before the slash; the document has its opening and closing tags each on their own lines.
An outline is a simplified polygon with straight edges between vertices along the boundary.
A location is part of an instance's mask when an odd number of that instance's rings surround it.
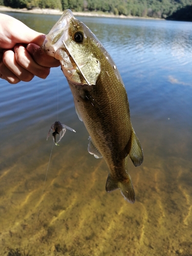
<svg viewBox="0 0 192 256">
<path fill-rule="evenodd" d="M 95 158 L 103 157 L 108 165 L 106 191 L 119 188 L 124 199 L 134 203 L 127 156 L 139 166 L 143 150 L 132 126 L 127 93 L 115 62 L 69 9 L 46 35 L 42 49 L 60 61 L 76 113 L 90 135 L 88 152 Z"/>
</svg>

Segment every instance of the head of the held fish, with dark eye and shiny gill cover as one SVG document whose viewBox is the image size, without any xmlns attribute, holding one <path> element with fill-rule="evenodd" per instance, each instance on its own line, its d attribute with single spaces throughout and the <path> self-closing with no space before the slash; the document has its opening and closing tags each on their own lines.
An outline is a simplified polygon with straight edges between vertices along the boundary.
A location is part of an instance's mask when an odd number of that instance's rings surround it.
<svg viewBox="0 0 192 256">
<path fill-rule="evenodd" d="M 46 36 L 42 49 L 60 61 L 68 81 L 92 86 L 101 72 L 99 46 L 91 30 L 68 9 Z"/>
</svg>

